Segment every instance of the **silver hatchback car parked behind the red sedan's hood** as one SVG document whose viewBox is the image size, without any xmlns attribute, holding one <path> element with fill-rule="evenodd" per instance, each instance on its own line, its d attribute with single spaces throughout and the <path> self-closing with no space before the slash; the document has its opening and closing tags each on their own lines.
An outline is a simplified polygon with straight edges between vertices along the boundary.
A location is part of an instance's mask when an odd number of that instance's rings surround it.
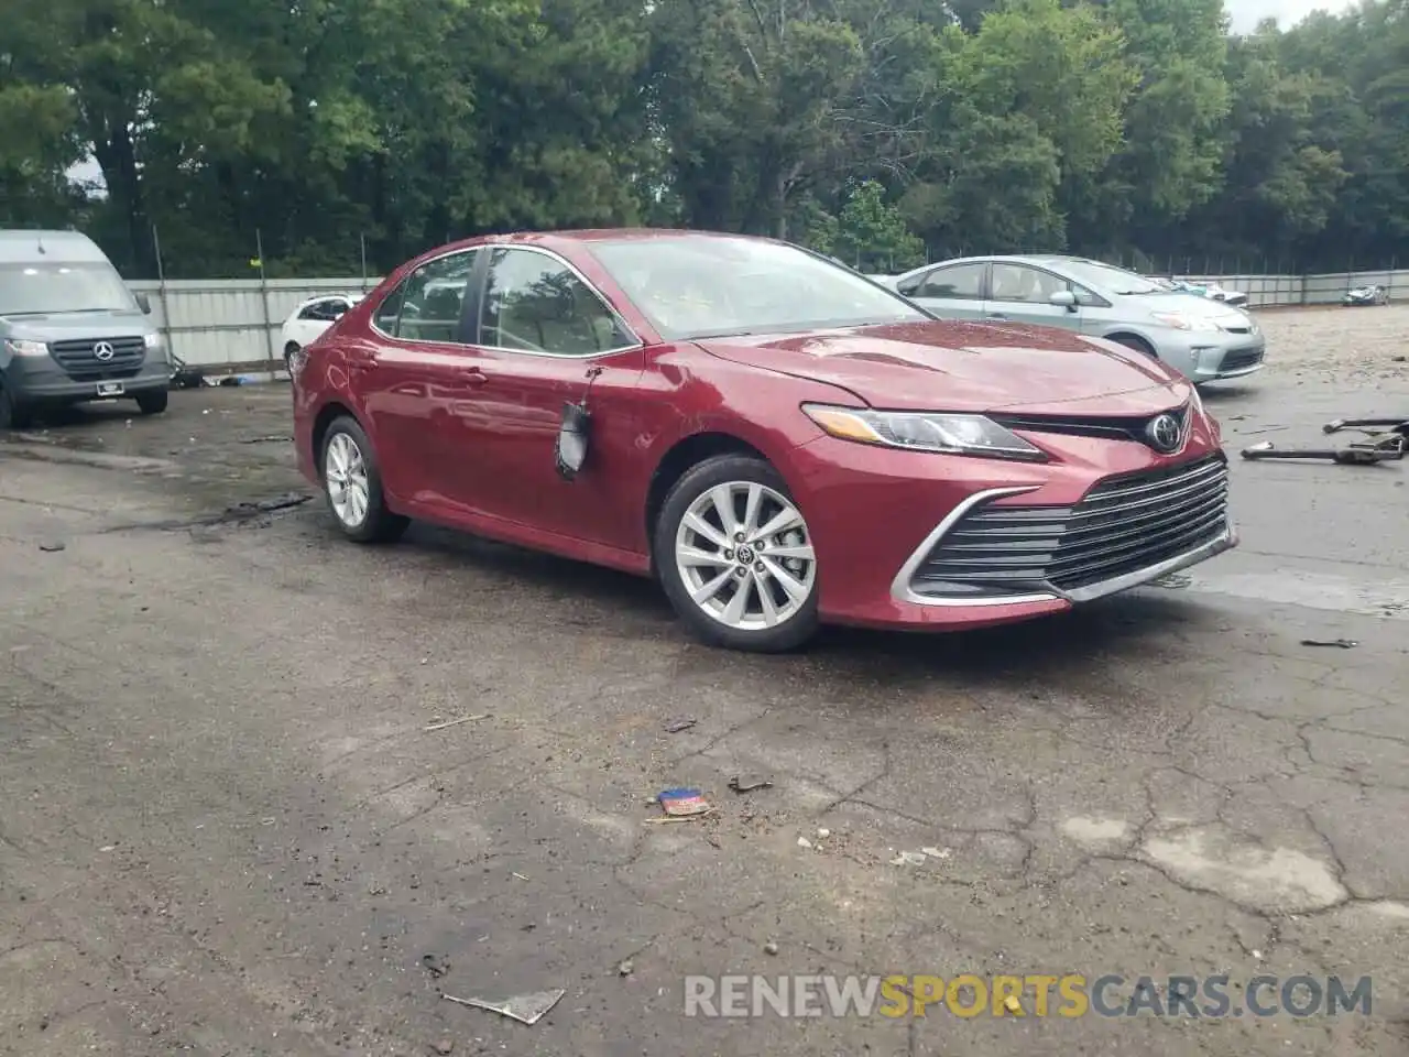
<svg viewBox="0 0 1409 1057">
<path fill-rule="evenodd" d="M 1169 290 L 1081 256 L 965 256 L 883 279 L 945 319 L 1064 327 L 1157 357 L 1192 382 L 1262 368 L 1267 340 L 1243 309 Z"/>
</svg>

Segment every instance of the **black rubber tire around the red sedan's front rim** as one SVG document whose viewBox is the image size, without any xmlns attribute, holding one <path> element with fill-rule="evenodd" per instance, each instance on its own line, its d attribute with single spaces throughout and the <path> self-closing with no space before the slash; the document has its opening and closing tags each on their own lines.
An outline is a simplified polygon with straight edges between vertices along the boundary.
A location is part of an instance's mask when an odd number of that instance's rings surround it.
<svg viewBox="0 0 1409 1057">
<path fill-rule="evenodd" d="M 805 644 L 817 631 L 817 575 L 812 579 L 812 593 L 795 613 L 774 627 L 730 627 L 706 613 L 690 598 L 675 561 L 675 540 L 681 521 L 690 506 L 717 485 L 738 482 L 758 483 L 772 489 L 792 503 L 792 495 L 782 475 L 768 462 L 752 455 L 717 455 L 692 466 L 665 497 L 655 523 L 652 554 L 657 576 L 675 612 L 690 631 L 712 645 L 748 653 L 783 653 Z M 809 534 L 810 537 L 810 534 Z M 810 541 L 810 538 L 809 538 Z M 820 571 L 817 571 L 820 574 Z M 757 592 L 758 588 L 754 588 Z M 755 595 L 757 598 L 757 595 Z M 759 599 L 761 605 L 761 599 Z"/>
</svg>

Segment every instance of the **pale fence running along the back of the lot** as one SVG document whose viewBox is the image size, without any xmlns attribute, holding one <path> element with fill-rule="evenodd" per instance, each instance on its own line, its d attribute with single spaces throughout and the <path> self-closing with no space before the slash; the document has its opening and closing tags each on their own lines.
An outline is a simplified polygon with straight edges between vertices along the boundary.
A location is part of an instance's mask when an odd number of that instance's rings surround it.
<svg viewBox="0 0 1409 1057">
<path fill-rule="evenodd" d="M 1334 304 L 1346 290 L 1379 285 L 1409 295 L 1409 271 L 1326 275 L 1179 276 L 1244 290 L 1254 309 Z M 130 283 L 152 303 L 168 347 L 189 366 L 220 372 L 272 371 L 282 362 L 279 327 L 293 307 L 323 293 L 369 290 L 379 279 L 209 279 Z"/>
</svg>

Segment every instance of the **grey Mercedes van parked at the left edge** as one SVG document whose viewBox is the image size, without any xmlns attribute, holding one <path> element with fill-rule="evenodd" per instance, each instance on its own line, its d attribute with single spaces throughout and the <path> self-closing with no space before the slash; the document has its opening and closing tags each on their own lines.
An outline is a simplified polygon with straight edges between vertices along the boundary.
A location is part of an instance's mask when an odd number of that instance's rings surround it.
<svg viewBox="0 0 1409 1057">
<path fill-rule="evenodd" d="M 85 400 L 165 412 L 170 361 L 151 310 L 87 235 L 0 231 L 0 430 Z"/>
</svg>

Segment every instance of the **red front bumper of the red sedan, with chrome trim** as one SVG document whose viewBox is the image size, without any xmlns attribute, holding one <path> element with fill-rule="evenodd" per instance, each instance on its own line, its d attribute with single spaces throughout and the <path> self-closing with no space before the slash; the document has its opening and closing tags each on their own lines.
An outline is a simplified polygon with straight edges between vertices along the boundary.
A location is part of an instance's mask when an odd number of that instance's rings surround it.
<svg viewBox="0 0 1409 1057">
<path fill-rule="evenodd" d="M 1141 538 L 1131 533 L 1131 526 L 1123 524 L 1119 533 L 1106 533 L 1122 537 L 1113 540 L 1109 550 L 1088 547 L 1084 554 L 1065 560 L 1067 571 L 1076 561 L 1095 567 L 1093 575 L 1034 575 L 1029 588 L 991 595 L 934 591 L 933 582 L 926 579 L 934 575 L 930 560 L 957 527 L 972 528 L 961 521 L 979 507 L 996 512 L 1036 507 L 1089 517 L 1089 512 L 1079 513 L 1086 510 L 1081 503 L 1099 483 L 1109 485 L 1110 478 L 1174 475 L 1193 464 L 1222 461 L 1217 440 L 1202 417 L 1189 444 L 1177 457 L 1160 457 L 1138 444 L 1093 437 L 1044 435 L 1043 445 L 1055 457 L 1053 462 L 1016 464 L 890 451 L 830 437 L 795 450 L 797 479 L 789 483 L 803 503 L 823 571 L 819 582 L 823 619 L 933 630 L 1012 623 L 1127 591 L 1237 545 L 1226 505 L 1222 514 L 1212 503 L 1191 509 L 1189 514 L 1199 519 L 1199 531 L 1182 533 L 1178 526 L 1161 520 L 1164 500 L 1157 497 L 1146 505 L 1138 519 L 1141 524 L 1136 527 L 1164 536 L 1168 545 L 1120 557 L 1126 547 L 1122 540 Z M 995 502 L 996 506 L 989 506 Z M 1043 517 L 1045 520 L 1045 513 Z M 978 547 L 992 550 L 982 541 Z M 1047 558 L 1058 561 L 1053 555 Z M 1055 567 L 1054 571 L 1061 572 Z"/>
</svg>

